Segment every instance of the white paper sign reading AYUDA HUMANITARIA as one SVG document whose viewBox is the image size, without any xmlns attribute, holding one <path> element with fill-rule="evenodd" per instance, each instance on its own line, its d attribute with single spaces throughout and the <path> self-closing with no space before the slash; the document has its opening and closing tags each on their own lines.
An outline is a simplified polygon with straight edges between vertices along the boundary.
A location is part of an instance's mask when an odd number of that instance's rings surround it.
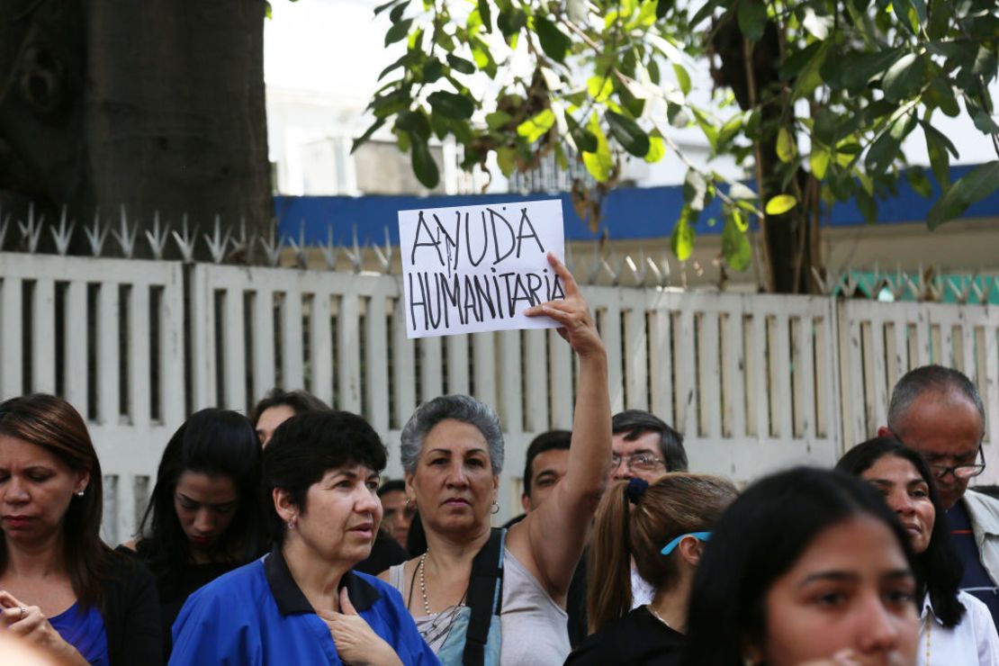
<svg viewBox="0 0 999 666">
<path fill-rule="evenodd" d="M 564 298 L 561 201 L 399 212 L 408 337 L 550 329 L 531 306 Z"/>
</svg>

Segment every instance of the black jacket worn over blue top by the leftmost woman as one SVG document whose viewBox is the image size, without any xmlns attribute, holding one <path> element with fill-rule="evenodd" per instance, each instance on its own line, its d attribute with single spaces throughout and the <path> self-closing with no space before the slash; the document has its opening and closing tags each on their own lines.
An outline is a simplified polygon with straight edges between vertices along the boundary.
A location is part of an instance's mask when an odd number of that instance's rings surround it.
<svg viewBox="0 0 999 666">
<path fill-rule="evenodd" d="M 163 647 L 156 579 L 142 562 L 115 552 L 108 553 L 108 572 L 101 616 L 111 666 L 160 666 Z"/>
</svg>

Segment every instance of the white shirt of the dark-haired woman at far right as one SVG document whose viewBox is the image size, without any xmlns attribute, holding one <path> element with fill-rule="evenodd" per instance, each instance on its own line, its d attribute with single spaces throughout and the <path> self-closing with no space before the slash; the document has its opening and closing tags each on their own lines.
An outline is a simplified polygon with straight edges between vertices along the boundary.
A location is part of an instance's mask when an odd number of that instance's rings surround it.
<svg viewBox="0 0 999 666">
<path fill-rule="evenodd" d="M 959 592 L 965 608 L 961 622 L 950 629 L 936 615 L 927 594 L 919 618 L 919 666 L 999 666 L 999 634 L 984 603 L 967 592 Z M 927 620 L 927 618 L 929 618 Z"/>
</svg>

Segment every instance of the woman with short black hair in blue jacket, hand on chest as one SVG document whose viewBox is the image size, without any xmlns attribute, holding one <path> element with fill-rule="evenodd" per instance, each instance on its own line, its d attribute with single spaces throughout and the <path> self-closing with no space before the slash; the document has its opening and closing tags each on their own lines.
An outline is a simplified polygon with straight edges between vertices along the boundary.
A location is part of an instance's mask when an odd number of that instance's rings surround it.
<svg viewBox="0 0 999 666">
<path fill-rule="evenodd" d="M 399 593 L 351 567 L 382 521 L 386 449 L 363 418 L 309 412 L 264 451 L 273 550 L 192 594 L 171 664 L 438 664 Z"/>
</svg>

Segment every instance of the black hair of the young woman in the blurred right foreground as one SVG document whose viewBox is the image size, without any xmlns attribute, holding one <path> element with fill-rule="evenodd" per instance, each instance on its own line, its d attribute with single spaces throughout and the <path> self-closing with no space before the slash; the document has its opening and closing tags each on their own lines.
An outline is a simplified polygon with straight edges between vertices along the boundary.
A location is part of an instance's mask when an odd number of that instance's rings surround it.
<svg viewBox="0 0 999 666">
<path fill-rule="evenodd" d="M 715 523 L 694 574 L 682 663 L 741 664 L 744 649 L 766 637 L 773 583 L 822 532 L 861 515 L 884 523 L 913 567 L 908 534 L 869 483 L 798 467 L 746 488 Z"/>
</svg>

